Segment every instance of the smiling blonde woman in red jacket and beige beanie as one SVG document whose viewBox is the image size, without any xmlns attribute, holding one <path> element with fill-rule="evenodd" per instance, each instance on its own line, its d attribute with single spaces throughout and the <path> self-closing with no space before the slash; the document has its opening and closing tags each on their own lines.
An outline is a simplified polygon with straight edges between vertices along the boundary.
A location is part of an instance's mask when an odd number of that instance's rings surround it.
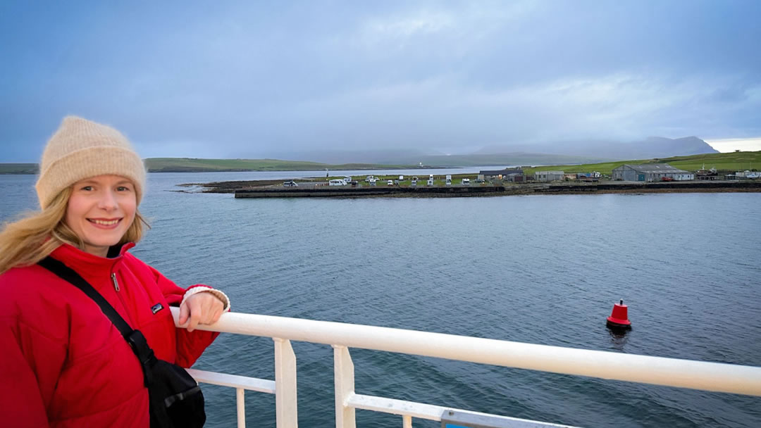
<svg viewBox="0 0 761 428">
<path fill-rule="evenodd" d="M 148 390 L 125 339 L 94 300 L 37 262 L 50 255 L 75 270 L 156 357 L 183 367 L 218 334 L 196 326 L 216 322 L 229 300 L 183 290 L 129 254 L 145 224 L 145 167 L 115 129 L 65 118 L 36 189 L 42 210 L 0 233 L 0 425 L 148 428 Z M 174 326 L 177 304 L 186 328 Z"/>
</svg>

